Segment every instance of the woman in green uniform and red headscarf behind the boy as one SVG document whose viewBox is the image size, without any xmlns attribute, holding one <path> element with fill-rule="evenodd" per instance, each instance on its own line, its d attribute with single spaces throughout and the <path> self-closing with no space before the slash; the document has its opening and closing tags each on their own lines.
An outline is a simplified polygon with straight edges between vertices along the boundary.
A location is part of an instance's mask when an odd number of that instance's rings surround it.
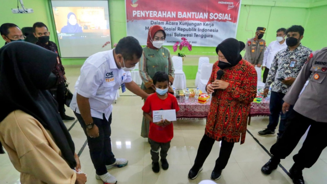
<svg viewBox="0 0 327 184">
<path fill-rule="evenodd" d="M 143 48 L 143 55 L 139 62 L 139 71 L 142 79 L 141 89 L 148 94 L 155 92 L 152 77 L 158 71 L 166 72 L 169 76 L 170 87 L 168 92 L 174 92 L 172 84 L 174 82 L 174 66 L 172 57 L 167 48 L 162 47 L 166 39 L 166 32 L 161 26 L 151 26 L 148 33 L 147 47 Z M 141 136 L 149 136 L 149 121 L 143 117 Z"/>
</svg>

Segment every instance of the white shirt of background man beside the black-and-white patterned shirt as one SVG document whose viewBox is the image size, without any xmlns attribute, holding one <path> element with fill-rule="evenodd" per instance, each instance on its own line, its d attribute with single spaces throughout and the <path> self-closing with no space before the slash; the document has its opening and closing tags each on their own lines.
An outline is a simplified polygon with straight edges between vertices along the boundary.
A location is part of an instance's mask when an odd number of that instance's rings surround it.
<svg viewBox="0 0 327 184">
<path fill-rule="evenodd" d="M 266 66 L 268 69 L 271 67 L 271 63 L 273 58 L 275 57 L 276 53 L 282 49 L 286 49 L 286 40 L 284 41 L 283 44 L 280 44 L 277 40 L 272 41 L 269 45 L 268 48 L 266 49 L 264 53 L 264 61 L 262 63 L 263 66 Z"/>
</svg>

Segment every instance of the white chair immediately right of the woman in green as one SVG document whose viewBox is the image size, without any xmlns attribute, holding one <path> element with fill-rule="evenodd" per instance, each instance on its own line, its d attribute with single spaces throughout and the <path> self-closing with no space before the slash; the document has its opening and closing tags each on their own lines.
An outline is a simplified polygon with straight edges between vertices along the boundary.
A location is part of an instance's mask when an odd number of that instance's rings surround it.
<svg viewBox="0 0 327 184">
<path fill-rule="evenodd" d="M 183 72 L 183 60 L 181 57 L 173 56 L 172 58 L 175 68 L 175 79 L 173 87 L 176 89 L 185 89 L 186 88 L 186 76 Z"/>
</svg>

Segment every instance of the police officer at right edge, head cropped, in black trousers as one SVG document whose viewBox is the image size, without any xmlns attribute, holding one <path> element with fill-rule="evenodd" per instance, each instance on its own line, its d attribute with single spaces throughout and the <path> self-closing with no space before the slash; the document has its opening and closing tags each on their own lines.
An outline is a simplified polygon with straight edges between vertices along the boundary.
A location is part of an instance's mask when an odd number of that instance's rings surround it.
<svg viewBox="0 0 327 184">
<path fill-rule="evenodd" d="M 308 85 L 299 96 L 308 79 Z M 283 98 L 285 101 L 282 107 L 284 113 L 290 109 L 291 105 L 295 106 L 284 134 L 270 149 L 273 156 L 261 168 L 264 174 L 270 174 L 277 168 L 280 159 L 284 159 L 292 153 L 298 141 L 310 127 L 302 148 L 293 156 L 295 163 L 290 169 L 293 183 L 304 184 L 302 170 L 310 168 L 327 147 L 326 91 L 327 47 L 308 57 L 291 89 Z"/>
</svg>

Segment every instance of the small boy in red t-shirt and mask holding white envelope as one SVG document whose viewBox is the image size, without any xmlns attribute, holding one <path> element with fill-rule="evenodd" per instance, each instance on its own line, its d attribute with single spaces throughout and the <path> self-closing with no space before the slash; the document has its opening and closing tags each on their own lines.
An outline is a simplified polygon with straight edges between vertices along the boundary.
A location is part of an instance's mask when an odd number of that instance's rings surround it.
<svg viewBox="0 0 327 184">
<path fill-rule="evenodd" d="M 172 110 L 179 111 L 177 99 L 173 94 L 168 93 L 169 77 L 165 72 L 157 72 L 153 78 L 153 88 L 156 93 L 151 94 L 142 107 L 143 115 L 150 121 L 149 142 L 151 145 L 152 171 L 158 173 L 159 167 L 159 149 L 161 157 L 161 166 L 163 170 L 169 167 L 166 159 L 170 148 L 170 141 L 174 136 L 173 123 L 168 120 L 161 120 L 158 123 L 152 123 L 152 111 Z"/>
</svg>

